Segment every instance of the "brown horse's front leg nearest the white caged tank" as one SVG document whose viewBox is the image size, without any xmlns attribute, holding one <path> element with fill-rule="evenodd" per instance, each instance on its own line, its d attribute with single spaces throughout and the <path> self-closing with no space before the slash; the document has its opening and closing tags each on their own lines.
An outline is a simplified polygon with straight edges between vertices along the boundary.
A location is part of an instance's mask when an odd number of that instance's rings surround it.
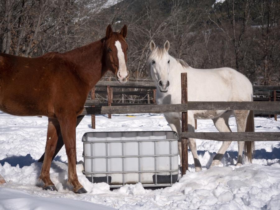
<svg viewBox="0 0 280 210">
<path fill-rule="evenodd" d="M 75 114 L 59 118 L 61 133 L 68 157 L 68 183 L 73 185 L 73 191 L 75 193 L 82 194 L 87 191 L 78 181 L 76 171 L 76 123 L 77 116 Z"/>
</svg>

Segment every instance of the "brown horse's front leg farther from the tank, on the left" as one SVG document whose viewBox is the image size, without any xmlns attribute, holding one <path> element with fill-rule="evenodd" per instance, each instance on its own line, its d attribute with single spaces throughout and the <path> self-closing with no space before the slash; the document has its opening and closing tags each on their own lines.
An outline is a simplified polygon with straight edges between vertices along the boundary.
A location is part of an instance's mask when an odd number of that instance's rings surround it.
<svg viewBox="0 0 280 210">
<path fill-rule="evenodd" d="M 54 183 L 49 178 L 49 170 L 54 155 L 55 147 L 57 144 L 58 135 L 60 132 L 60 126 L 57 119 L 49 118 L 47 142 L 45 148 L 45 156 L 41 169 L 40 179 L 44 182 L 44 189 L 57 191 Z"/>
</svg>

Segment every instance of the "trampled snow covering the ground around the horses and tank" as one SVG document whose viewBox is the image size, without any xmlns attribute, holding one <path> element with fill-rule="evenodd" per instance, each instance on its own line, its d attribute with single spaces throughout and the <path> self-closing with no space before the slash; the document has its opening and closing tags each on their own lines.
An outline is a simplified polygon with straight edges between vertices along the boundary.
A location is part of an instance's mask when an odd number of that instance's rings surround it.
<svg viewBox="0 0 280 210">
<path fill-rule="evenodd" d="M 78 179 L 88 191 L 74 194 L 67 185 L 65 148 L 51 165 L 50 177 L 58 192 L 40 188 L 38 177 L 44 152 L 47 118 L 17 117 L 0 112 L 0 209 L 280 209 L 280 143 L 255 142 L 253 164 L 234 166 L 237 143 L 233 142 L 224 167 L 209 169 L 222 142 L 197 140 L 203 171 L 194 172 L 189 152 L 189 172 L 179 182 L 164 189 L 144 189 L 140 183 L 110 191 L 105 183 L 92 184 L 77 165 Z M 77 161 L 82 158 L 82 135 L 91 131 L 170 130 L 162 114 L 107 115 L 96 117 L 96 130 L 86 116 L 77 127 Z M 234 118 L 230 127 L 236 131 Z M 277 132 L 280 119 L 255 118 L 256 132 Z M 198 120 L 197 132 L 217 132 L 212 120 Z M 279 140 L 279 139 L 275 139 Z M 102 204 L 102 205 L 100 205 Z"/>
</svg>

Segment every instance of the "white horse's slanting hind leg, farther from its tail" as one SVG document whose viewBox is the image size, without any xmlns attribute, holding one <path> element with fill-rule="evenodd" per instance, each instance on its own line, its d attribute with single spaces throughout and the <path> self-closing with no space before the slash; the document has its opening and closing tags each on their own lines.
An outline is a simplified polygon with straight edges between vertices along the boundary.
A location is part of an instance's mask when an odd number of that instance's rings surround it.
<svg viewBox="0 0 280 210">
<path fill-rule="evenodd" d="M 231 128 L 228 125 L 228 119 L 231 116 L 231 114 L 232 114 L 232 112 L 228 111 L 228 112 L 222 114 L 220 117 L 212 119 L 215 127 L 217 128 L 217 130 L 219 132 L 231 132 Z M 221 160 L 230 144 L 231 144 L 231 142 L 222 143 L 222 146 L 220 147 L 219 151 L 213 158 L 210 168 L 221 164 Z"/>
</svg>

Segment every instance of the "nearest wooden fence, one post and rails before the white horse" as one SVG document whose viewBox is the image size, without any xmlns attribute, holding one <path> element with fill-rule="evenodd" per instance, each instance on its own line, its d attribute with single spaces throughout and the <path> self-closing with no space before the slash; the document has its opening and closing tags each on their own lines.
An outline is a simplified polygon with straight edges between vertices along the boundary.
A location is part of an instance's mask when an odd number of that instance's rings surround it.
<svg viewBox="0 0 280 210">
<path fill-rule="evenodd" d="M 107 81 L 106 81 L 107 82 Z M 224 132 L 224 133 L 188 133 L 187 111 L 188 110 L 254 110 L 255 112 L 267 112 L 280 114 L 279 101 L 246 101 L 246 102 L 203 102 L 188 101 L 187 99 L 187 73 L 181 74 L 182 104 L 169 105 L 135 105 L 135 106 L 96 106 L 85 107 L 83 115 L 86 114 L 128 114 L 128 113 L 165 113 L 182 112 L 182 173 L 188 170 L 188 140 L 187 138 L 200 138 L 217 141 L 275 141 L 280 140 L 280 132 Z M 118 84 L 115 84 L 118 85 Z M 127 84 L 132 85 L 131 83 Z M 263 88 L 263 87 L 260 87 Z M 266 89 L 265 89 L 266 90 Z M 94 101 L 93 101 L 94 102 Z"/>
</svg>

